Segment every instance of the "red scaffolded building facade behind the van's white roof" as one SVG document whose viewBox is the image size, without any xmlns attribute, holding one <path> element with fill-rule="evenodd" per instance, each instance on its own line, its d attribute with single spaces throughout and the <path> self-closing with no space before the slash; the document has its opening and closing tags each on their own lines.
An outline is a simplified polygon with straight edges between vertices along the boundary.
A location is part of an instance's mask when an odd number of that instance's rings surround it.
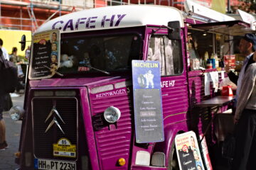
<svg viewBox="0 0 256 170">
<path fill-rule="evenodd" d="M 38 26 L 41 26 L 41 24 L 51 18 L 73 11 L 102 6 L 153 4 L 175 6 L 183 11 L 183 1 L 184 0 L 0 0 L 0 28 L 31 30 L 34 32 Z M 195 1 L 202 1 L 202 3 L 206 4 L 210 3 L 211 0 Z M 18 16 L 3 14 L 4 12 L 2 11 L 4 9 L 9 8 L 9 10 L 13 10 L 13 7 L 16 7 L 16 10 L 19 11 Z M 40 13 L 38 11 L 40 11 Z M 42 16 L 46 17 L 42 18 Z"/>
</svg>

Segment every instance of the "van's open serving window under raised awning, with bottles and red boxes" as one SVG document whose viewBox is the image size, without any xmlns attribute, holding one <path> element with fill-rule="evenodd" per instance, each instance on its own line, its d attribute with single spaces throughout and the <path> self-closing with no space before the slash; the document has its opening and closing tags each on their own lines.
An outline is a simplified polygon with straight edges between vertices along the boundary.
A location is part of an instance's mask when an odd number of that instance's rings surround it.
<svg viewBox="0 0 256 170">
<path fill-rule="evenodd" d="M 240 39 L 240 36 L 245 35 L 245 33 L 255 32 L 250 28 L 250 24 L 243 21 L 196 23 L 190 26 L 187 53 L 190 58 L 191 69 L 213 67 L 213 69 L 220 70 L 220 67 L 224 67 L 224 63 L 237 69 L 238 65 L 241 64 L 240 58 L 242 58 L 237 54 L 239 53 L 236 45 L 237 39 Z M 194 46 L 189 45 L 191 40 Z M 195 63 L 197 62 L 200 63 L 200 67 L 196 67 Z"/>
</svg>

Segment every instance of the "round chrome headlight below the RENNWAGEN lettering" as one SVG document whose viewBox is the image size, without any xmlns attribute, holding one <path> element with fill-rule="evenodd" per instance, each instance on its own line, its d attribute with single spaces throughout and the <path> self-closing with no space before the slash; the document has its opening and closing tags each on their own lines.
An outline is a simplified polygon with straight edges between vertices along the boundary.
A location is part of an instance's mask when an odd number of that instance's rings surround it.
<svg viewBox="0 0 256 170">
<path fill-rule="evenodd" d="M 104 111 L 104 118 L 108 123 L 116 123 L 120 116 L 121 112 L 114 106 L 110 106 Z"/>
</svg>

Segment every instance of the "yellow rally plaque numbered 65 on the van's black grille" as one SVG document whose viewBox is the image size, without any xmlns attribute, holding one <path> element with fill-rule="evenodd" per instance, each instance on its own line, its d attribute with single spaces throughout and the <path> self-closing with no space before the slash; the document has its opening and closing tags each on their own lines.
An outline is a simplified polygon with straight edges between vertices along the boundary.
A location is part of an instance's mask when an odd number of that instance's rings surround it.
<svg viewBox="0 0 256 170">
<path fill-rule="evenodd" d="M 53 144 L 54 157 L 76 157 L 76 145 L 72 145 L 66 138 L 60 138 L 56 144 Z"/>
</svg>

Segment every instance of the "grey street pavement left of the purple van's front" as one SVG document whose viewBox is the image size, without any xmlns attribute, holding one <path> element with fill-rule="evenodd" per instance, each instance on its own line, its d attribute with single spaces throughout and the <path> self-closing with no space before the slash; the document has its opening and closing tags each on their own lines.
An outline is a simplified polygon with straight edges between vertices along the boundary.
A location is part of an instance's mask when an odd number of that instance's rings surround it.
<svg viewBox="0 0 256 170">
<path fill-rule="evenodd" d="M 14 106 L 23 107 L 24 95 L 12 97 Z M 0 170 L 14 170 L 18 168 L 15 164 L 14 153 L 18 152 L 18 145 L 21 134 L 21 120 L 14 122 L 11 120 L 9 113 L 4 113 L 4 121 L 6 123 L 6 142 L 9 145 L 8 149 L 0 150 Z"/>
</svg>

